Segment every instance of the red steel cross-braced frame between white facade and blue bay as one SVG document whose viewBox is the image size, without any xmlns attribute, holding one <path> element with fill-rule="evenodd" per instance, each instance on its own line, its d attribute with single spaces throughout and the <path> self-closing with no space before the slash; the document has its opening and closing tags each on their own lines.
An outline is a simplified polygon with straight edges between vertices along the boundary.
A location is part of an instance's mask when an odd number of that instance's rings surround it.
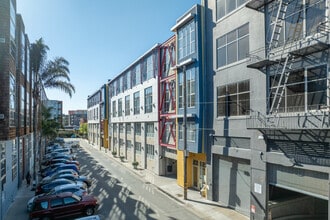
<svg viewBox="0 0 330 220">
<path fill-rule="evenodd" d="M 175 36 L 160 48 L 159 71 L 159 144 L 162 147 L 176 148 L 176 61 Z"/>
</svg>

